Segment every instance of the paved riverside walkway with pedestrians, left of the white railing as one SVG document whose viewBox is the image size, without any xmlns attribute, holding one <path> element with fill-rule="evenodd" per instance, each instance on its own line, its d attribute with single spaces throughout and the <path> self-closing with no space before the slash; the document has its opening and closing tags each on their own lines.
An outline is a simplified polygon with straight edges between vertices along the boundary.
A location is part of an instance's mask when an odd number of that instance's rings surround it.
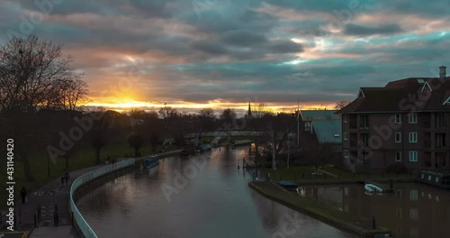
<svg viewBox="0 0 450 238">
<path fill-rule="evenodd" d="M 181 150 L 177 151 L 166 151 L 157 154 L 159 158 L 164 158 L 171 154 L 179 153 Z M 136 158 L 136 160 L 144 160 L 148 156 L 142 156 Z M 68 212 L 68 201 L 70 198 L 70 186 L 71 182 L 76 178 L 84 175 L 85 173 L 92 171 L 94 169 L 99 169 L 103 165 L 97 165 L 85 169 L 79 169 L 70 172 L 70 181 L 68 186 L 61 186 L 60 178 L 56 178 L 49 181 L 45 186 L 39 188 L 32 194 L 28 194 L 28 202 L 22 204 L 21 200 L 16 200 L 14 211 L 17 215 L 17 228 L 14 232 L 8 232 L 6 228 L 0 230 L 0 238 L 12 238 L 12 237 L 46 237 L 46 238 L 77 238 L 79 237 L 76 233 L 75 228 L 72 226 L 72 218 Z M 58 226 L 54 225 L 53 222 L 53 211 L 55 205 L 58 206 Z M 34 214 L 37 212 L 37 208 L 40 206 L 40 224 L 37 228 L 33 229 L 34 226 Z M 20 214 L 20 215 L 19 215 Z M 19 217 L 20 216 L 20 217 Z"/>
</svg>

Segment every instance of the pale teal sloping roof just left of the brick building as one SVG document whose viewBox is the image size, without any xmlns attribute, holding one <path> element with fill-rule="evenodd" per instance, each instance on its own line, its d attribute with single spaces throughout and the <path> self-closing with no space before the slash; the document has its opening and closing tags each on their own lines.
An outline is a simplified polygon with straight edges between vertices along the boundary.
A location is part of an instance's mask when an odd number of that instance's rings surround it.
<svg viewBox="0 0 450 238">
<path fill-rule="evenodd" d="M 312 122 L 320 143 L 342 143 L 342 123 L 340 120 Z"/>
</svg>

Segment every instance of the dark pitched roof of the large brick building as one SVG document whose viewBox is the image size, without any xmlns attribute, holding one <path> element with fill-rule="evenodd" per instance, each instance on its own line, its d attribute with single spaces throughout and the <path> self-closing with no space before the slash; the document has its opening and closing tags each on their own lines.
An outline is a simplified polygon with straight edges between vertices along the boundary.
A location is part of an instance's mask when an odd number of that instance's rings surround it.
<svg viewBox="0 0 450 238">
<path fill-rule="evenodd" d="M 405 78 L 385 87 L 361 87 L 356 99 L 337 114 L 411 111 L 448 111 L 450 77 Z"/>
</svg>

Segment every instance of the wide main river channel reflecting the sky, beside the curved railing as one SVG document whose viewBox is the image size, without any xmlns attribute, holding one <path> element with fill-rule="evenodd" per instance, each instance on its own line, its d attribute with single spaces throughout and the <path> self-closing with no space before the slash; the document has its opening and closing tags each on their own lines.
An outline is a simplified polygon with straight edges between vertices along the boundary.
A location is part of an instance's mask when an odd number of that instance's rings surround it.
<svg viewBox="0 0 450 238">
<path fill-rule="evenodd" d="M 244 148 L 160 160 L 115 178 L 77 206 L 99 237 L 357 237 L 248 188 Z"/>
</svg>

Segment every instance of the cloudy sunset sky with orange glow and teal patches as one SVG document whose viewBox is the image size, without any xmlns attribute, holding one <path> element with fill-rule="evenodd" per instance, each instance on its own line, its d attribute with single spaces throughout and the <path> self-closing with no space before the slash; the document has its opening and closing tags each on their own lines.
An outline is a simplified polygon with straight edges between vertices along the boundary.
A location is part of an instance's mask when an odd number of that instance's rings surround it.
<svg viewBox="0 0 450 238">
<path fill-rule="evenodd" d="M 1 0 L 0 44 L 63 44 L 91 105 L 333 109 L 450 66 L 450 0 Z"/>
</svg>

